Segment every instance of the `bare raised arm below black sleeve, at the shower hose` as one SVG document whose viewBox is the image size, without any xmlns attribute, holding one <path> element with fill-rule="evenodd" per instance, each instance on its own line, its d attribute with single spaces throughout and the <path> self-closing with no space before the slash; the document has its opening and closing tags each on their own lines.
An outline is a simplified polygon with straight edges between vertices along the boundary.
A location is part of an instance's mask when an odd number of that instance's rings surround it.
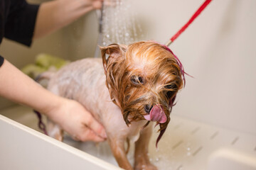
<svg viewBox="0 0 256 170">
<path fill-rule="evenodd" d="M 55 0 L 41 4 L 33 39 L 72 23 L 85 13 L 101 8 L 103 0 Z"/>
</svg>

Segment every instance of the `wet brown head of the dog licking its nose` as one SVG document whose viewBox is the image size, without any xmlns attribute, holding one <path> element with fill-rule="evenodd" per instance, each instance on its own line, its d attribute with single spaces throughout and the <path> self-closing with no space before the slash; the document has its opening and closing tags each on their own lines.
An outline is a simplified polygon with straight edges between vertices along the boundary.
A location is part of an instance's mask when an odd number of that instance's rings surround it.
<svg viewBox="0 0 256 170">
<path fill-rule="evenodd" d="M 183 69 L 168 49 L 156 42 L 101 47 L 107 88 L 125 123 L 156 121 L 163 135 L 171 108 L 183 87 Z M 157 144 L 156 142 L 156 144 Z"/>
</svg>

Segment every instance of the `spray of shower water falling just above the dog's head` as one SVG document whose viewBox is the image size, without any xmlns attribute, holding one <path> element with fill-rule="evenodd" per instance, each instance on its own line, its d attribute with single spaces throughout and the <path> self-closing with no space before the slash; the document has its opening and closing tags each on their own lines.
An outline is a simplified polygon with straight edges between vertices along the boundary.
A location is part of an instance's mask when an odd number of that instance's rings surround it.
<svg viewBox="0 0 256 170">
<path fill-rule="evenodd" d="M 132 11 L 135 4 L 119 0 L 114 6 L 104 6 L 102 20 L 102 44 L 126 44 L 142 38 L 142 27 L 137 21 L 137 13 Z M 139 38 L 139 36 L 141 38 Z"/>
</svg>

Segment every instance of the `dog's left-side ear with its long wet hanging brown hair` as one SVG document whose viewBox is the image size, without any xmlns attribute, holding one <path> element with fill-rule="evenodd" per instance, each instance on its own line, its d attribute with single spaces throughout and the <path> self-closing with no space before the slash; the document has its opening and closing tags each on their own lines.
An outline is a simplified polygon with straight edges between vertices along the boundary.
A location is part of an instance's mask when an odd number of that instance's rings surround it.
<svg viewBox="0 0 256 170">
<path fill-rule="evenodd" d="M 106 74 L 106 85 L 110 91 L 112 101 L 120 107 L 120 86 L 124 71 L 126 45 L 112 44 L 107 47 L 100 47 L 102 62 Z"/>
</svg>

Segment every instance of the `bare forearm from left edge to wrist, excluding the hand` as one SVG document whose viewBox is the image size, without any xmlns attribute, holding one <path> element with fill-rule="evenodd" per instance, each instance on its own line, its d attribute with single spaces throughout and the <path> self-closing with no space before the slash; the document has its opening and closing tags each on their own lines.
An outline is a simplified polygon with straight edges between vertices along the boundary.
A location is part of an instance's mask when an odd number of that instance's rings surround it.
<svg viewBox="0 0 256 170">
<path fill-rule="evenodd" d="M 59 96 L 43 89 L 7 60 L 0 68 L 0 82 L 0 96 L 43 113 L 48 113 L 60 102 Z"/>
</svg>

